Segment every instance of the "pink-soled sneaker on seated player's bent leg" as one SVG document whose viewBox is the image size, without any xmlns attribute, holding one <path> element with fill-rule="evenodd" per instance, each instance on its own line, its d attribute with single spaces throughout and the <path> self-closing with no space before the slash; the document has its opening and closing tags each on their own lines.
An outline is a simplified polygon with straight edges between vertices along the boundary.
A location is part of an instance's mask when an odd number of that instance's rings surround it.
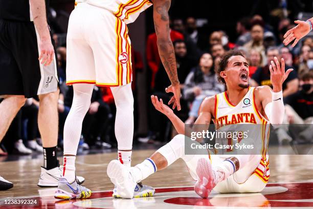
<svg viewBox="0 0 313 209">
<path fill-rule="evenodd" d="M 194 184 L 194 191 L 202 198 L 208 198 L 211 191 L 217 184 L 216 174 L 212 168 L 211 163 L 205 159 L 198 160 L 196 168 L 198 180 Z"/>
</svg>

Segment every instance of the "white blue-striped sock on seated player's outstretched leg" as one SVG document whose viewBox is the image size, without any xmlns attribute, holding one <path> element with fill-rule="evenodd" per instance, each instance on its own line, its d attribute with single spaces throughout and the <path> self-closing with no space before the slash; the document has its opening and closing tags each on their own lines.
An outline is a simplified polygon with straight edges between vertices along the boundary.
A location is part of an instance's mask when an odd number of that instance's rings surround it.
<svg viewBox="0 0 313 209">
<path fill-rule="evenodd" d="M 147 158 L 142 163 L 130 168 L 130 173 L 136 182 L 147 178 L 155 172 L 157 172 L 157 165 L 155 165 L 150 158 Z"/>
</svg>

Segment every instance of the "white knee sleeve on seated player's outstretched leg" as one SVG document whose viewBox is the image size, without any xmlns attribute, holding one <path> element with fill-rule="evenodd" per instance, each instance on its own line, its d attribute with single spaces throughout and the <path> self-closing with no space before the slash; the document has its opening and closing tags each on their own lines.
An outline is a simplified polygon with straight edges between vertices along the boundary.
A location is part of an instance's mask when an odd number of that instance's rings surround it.
<svg viewBox="0 0 313 209">
<path fill-rule="evenodd" d="M 185 135 L 178 134 L 158 151 L 167 160 L 167 166 L 185 155 Z"/>
</svg>

